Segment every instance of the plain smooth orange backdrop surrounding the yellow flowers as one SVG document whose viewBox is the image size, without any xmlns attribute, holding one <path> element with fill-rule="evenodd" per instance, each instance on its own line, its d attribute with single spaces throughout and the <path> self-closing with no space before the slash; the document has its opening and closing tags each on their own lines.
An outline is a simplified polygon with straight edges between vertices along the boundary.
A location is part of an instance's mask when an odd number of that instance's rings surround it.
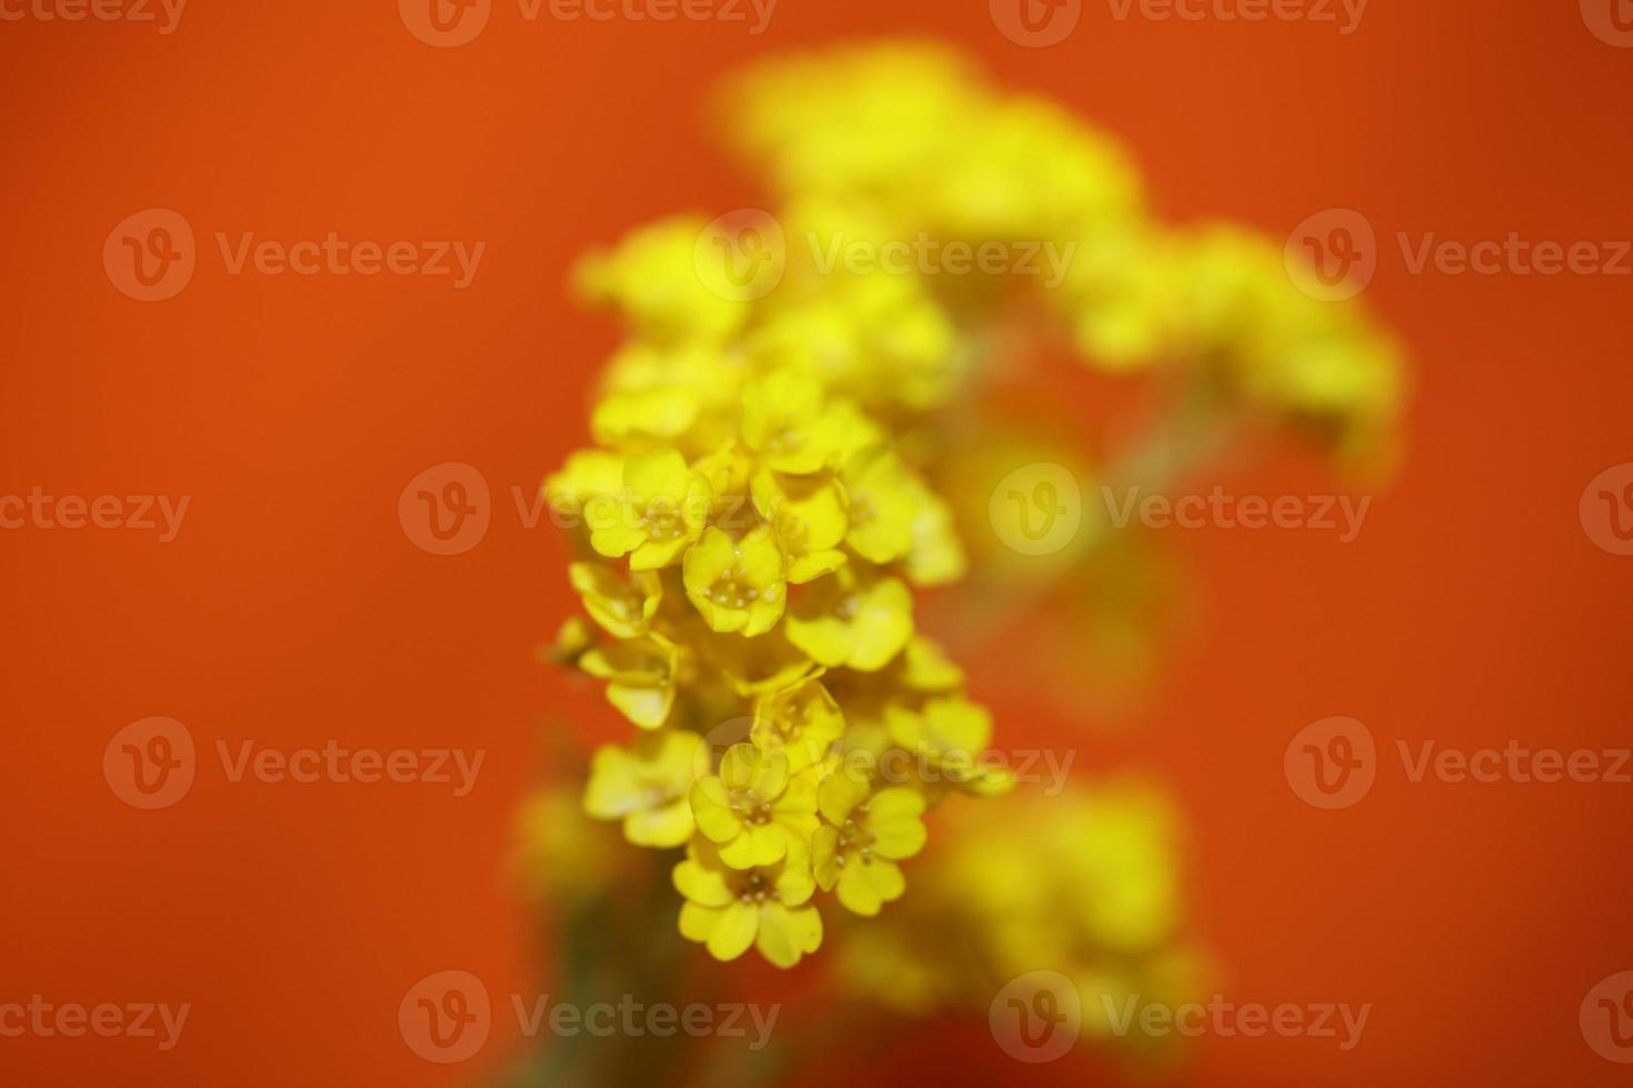
<svg viewBox="0 0 1633 1088">
<path fill-rule="evenodd" d="M 573 307 L 573 254 L 630 225 L 763 199 L 697 124 L 702 91 L 768 51 L 923 31 L 1122 135 L 1159 209 L 1285 235 L 1364 210 L 1368 292 L 1417 367 L 1406 470 L 1350 546 L 1189 533 L 1199 630 L 1135 731 L 1081 741 L 991 664 L 1004 741 L 1143 767 L 1192 824 L 1197 935 L 1239 1002 L 1373 1005 L 1362 1046 L 1200 1041 L 1195 1085 L 1623 1083 L 1577 1005 L 1633 967 L 1633 788 L 1409 785 L 1396 739 L 1626 745 L 1633 558 L 1595 548 L 1577 499 L 1633 460 L 1630 279 L 1411 276 L 1393 243 L 1633 237 L 1633 51 L 1574 3 L 1372 3 L 1360 31 L 1115 21 L 1089 3 L 1053 49 L 985 3 L 784 0 L 766 34 L 719 23 L 524 23 L 501 0 L 461 49 L 394 3 L 193 0 L 180 28 L 0 24 L 7 197 L 0 493 L 193 496 L 180 537 L 0 532 L 7 892 L 0 1002 L 189 1002 L 181 1044 L 0 1039 L 18 1085 L 470 1083 L 397 1033 L 421 975 L 534 992 L 506 869 L 513 814 L 563 708 L 596 698 L 534 662 L 573 608 L 531 493 L 586 437 L 614 343 Z M 171 207 L 199 235 L 176 299 L 116 292 L 101 246 Z M 488 243 L 446 279 L 229 276 L 214 232 Z M 493 527 L 433 558 L 397 496 L 478 467 Z M 1230 483 L 1319 486 L 1303 465 Z M 100 773 L 124 724 L 170 714 L 201 744 L 175 807 Z M 1303 806 L 1282 750 L 1329 714 L 1390 750 L 1372 796 Z M 212 742 L 483 747 L 477 789 L 229 783 Z M 514 1033 L 511 1033 L 514 1034 Z M 487 1059 L 503 1055 L 503 1029 Z M 1022 1077 L 983 1031 L 906 1037 L 885 1070 Z M 1107 1075 L 1110 1075 L 1107 1072 Z M 1065 1068 L 1039 1073 L 1068 1083 Z M 821 1077 L 813 1077 L 818 1083 Z"/>
</svg>

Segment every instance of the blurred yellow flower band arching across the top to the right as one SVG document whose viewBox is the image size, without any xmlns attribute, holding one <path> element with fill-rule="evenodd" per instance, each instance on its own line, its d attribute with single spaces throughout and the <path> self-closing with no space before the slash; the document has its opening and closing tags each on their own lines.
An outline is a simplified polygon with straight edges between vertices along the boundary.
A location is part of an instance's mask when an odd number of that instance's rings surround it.
<svg viewBox="0 0 1633 1088">
<path fill-rule="evenodd" d="M 727 103 L 745 157 L 823 230 L 1052 245 L 1070 254 L 1061 282 L 1032 294 L 1089 365 L 1182 370 L 1355 458 L 1390 440 L 1399 347 L 1365 308 L 1300 290 L 1284 248 L 1249 230 L 1156 219 L 1124 148 L 1065 108 L 918 42 L 772 60 Z"/>
</svg>

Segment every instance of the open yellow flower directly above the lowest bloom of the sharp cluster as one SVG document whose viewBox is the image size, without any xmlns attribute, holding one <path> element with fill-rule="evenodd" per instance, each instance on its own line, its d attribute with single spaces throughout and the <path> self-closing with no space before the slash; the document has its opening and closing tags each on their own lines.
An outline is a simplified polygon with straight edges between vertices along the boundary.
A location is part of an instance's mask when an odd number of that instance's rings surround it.
<svg viewBox="0 0 1633 1088">
<path fill-rule="evenodd" d="M 692 785 L 697 830 L 733 869 L 774 865 L 816 830 L 816 783 L 789 773 L 789 757 L 733 744 L 720 773 Z"/>
</svg>

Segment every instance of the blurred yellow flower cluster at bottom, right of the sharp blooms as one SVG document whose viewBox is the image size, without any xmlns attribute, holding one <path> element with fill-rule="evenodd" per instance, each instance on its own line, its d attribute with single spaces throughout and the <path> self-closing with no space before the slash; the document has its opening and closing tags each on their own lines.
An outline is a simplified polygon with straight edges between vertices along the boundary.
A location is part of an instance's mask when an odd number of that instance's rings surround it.
<svg viewBox="0 0 1633 1088">
<path fill-rule="evenodd" d="M 1112 1008 L 1202 992 L 1208 964 L 1184 941 L 1181 819 L 1163 793 L 1112 780 L 1092 793 L 1016 794 L 942 824 L 946 848 L 923 860 L 918 894 L 848 935 L 838 961 L 848 990 L 901 1015 L 985 1013 L 1004 982 L 1053 971 L 1076 988 L 1084 1033 L 1101 1039 L 1114 1036 Z M 950 946 L 960 954 L 947 956 Z"/>
</svg>

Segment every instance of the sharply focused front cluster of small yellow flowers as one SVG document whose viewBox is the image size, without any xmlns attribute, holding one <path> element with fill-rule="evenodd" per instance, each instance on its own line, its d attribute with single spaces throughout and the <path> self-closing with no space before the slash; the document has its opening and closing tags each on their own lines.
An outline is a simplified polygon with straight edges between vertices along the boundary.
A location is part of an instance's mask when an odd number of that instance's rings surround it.
<svg viewBox="0 0 1633 1088">
<path fill-rule="evenodd" d="M 877 382 L 890 351 L 936 362 L 867 312 L 910 300 L 826 282 L 725 299 L 701 287 L 699 237 L 660 223 L 585 268 L 635 338 L 593 411 L 599 445 L 545 483 L 594 623 L 560 651 L 635 726 L 594 754 L 586 812 L 686 848 L 684 936 L 790 967 L 821 943 L 818 891 L 879 913 L 926 809 L 1008 778 L 983 759 L 988 714 L 914 628 L 913 587 L 963 568 L 947 507 L 869 411 L 892 388 L 849 380 Z M 813 356 L 818 326 L 856 356 Z"/>
</svg>

